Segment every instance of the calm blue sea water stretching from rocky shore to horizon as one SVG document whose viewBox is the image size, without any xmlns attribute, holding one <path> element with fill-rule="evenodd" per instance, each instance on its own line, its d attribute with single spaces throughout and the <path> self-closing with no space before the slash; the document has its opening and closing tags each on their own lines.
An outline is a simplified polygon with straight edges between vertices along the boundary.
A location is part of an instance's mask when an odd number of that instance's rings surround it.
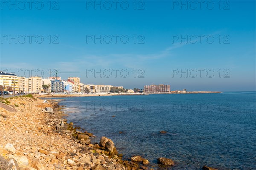
<svg viewBox="0 0 256 170">
<path fill-rule="evenodd" d="M 107 136 L 125 158 L 142 155 L 154 169 L 167 157 L 173 170 L 256 170 L 256 92 L 61 99 L 67 119 L 95 134 L 93 142 Z"/>
</svg>

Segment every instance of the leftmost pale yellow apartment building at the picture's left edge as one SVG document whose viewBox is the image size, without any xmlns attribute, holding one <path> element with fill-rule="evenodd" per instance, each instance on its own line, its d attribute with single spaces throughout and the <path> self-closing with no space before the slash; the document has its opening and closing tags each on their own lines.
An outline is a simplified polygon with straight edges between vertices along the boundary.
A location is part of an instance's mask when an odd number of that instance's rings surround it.
<svg viewBox="0 0 256 170">
<path fill-rule="evenodd" d="M 0 85 L 3 85 L 5 90 L 8 86 L 15 88 L 15 92 L 19 90 L 19 79 L 15 74 L 4 73 L 0 71 Z"/>
</svg>

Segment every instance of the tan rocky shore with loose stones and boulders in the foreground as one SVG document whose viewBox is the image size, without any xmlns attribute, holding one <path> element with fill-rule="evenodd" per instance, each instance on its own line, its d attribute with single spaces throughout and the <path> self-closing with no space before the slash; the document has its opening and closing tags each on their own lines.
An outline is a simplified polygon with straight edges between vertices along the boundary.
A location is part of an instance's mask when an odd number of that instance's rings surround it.
<svg viewBox="0 0 256 170">
<path fill-rule="evenodd" d="M 0 170 L 152 170 L 141 156 L 123 160 L 107 137 L 91 144 L 93 134 L 67 124 L 62 107 L 32 95 L 0 98 Z M 167 158 L 157 162 L 165 168 L 175 164 Z"/>
</svg>

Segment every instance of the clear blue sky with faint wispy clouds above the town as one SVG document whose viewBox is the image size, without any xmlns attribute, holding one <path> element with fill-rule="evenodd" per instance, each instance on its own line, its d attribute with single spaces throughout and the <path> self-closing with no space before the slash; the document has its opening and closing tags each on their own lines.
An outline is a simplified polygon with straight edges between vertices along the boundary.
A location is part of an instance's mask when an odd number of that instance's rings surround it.
<svg viewBox="0 0 256 170">
<path fill-rule="evenodd" d="M 28 69 L 34 69 L 32 75 L 41 75 L 41 69 L 48 77 L 49 69 L 58 69 L 61 79 L 77 76 L 85 84 L 125 88 L 154 83 L 169 84 L 171 90 L 256 90 L 254 0 L 182 1 L 183 6 L 172 0 L 116 6 L 97 1 L 102 9 L 85 0 L 34 1 L 31 9 L 29 3 L 0 2 L 3 71 L 25 69 L 28 77 Z M 101 69 L 102 77 L 90 74 Z"/>
</svg>

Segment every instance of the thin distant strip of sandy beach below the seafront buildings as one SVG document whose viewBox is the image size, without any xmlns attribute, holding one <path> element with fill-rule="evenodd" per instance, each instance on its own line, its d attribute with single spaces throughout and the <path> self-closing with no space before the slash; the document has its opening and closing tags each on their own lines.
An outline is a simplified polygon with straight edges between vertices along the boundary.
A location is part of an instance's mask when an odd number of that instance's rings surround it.
<svg viewBox="0 0 256 170">
<path fill-rule="evenodd" d="M 205 94 L 205 93 L 222 93 L 220 91 L 189 91 L 187 93 L 111 93 L 111 94 L 34 94 L 38 98 L 57 98 L 57 97 L 90 97 L 90 96 L 137 96 L 137 95 L 150 95 L 150 94 Z"/>
</svg>

